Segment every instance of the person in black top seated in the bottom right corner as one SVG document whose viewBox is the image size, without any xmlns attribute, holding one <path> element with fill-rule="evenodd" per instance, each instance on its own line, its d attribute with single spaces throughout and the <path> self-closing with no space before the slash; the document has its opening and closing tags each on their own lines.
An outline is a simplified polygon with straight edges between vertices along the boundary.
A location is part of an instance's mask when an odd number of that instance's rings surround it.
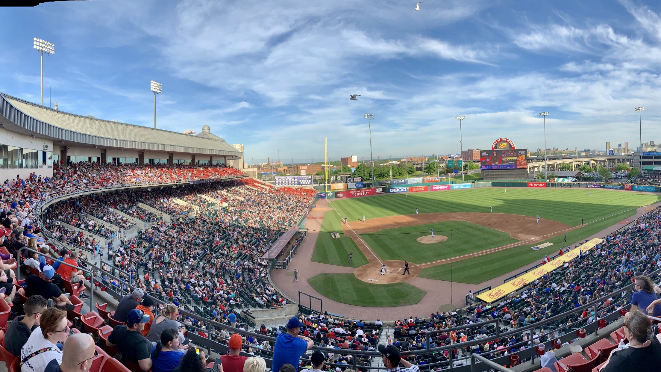
<svg viewBox="0 0 661 372">
<path fill-rule="evenodd" d="M 648 338 L 650 318 L 641 311 L 627 312 L 624 333 L 629 348 L 611 352 L 600 372 L 657 371 L 661 365 L 661 334 Z"/>
</svg>

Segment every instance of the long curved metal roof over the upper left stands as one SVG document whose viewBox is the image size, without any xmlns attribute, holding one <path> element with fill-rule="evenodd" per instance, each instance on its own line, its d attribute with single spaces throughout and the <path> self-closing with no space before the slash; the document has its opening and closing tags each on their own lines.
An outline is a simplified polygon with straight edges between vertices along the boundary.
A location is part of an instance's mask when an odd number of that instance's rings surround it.
<svg viewBox="0 0 661 372">
<path fill-rule="evenodd" d="M 222 138 L 190 136 L 147 126 L 75 115 L 0 93 L 0 123 L 11 130 L 66 146 L 122 148 L 191 154 L 241 156 Z M 209 133 L 211 134 L 211 133 Z M 61 144 L 61 143 L 60 143 Z"/>
</svg>

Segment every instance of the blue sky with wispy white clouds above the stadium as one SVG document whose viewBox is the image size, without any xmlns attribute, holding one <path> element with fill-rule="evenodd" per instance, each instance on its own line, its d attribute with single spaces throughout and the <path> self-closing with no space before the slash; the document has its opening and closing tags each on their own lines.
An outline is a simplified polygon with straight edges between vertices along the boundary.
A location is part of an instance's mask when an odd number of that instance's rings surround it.
<svg viewBox="0 0 661 372">
<path fill-rule="evenodd" d="M 611 0 L 68 1 L 3 8 L 0 91 L 79 115 L 200 132 L 245 158 L 661 142 L 661 3 Z M 349 101 L 350 94 L 360 94 Z M 656 100 L 656 102 L 654 101 Z"/>
</svg>

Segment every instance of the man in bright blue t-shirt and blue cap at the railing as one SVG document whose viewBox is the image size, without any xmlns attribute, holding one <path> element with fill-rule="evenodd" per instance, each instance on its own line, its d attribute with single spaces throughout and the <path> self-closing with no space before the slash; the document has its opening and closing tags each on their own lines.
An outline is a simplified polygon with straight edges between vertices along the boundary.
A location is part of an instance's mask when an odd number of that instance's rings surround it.
<svg viewBox="0 0 661 372">
<path fill-rule="evenodd" d="M 287 322 L 287 333 L 279 334 L 273 347 L 272 372 L 280 372 L 280 367 L 289 363 L 298 368 L 301 355 L 314 346 L 314 342 L 305 336 L 299 336 L 298 332 L 304 324 L 297 317 Z"/>
</svg>

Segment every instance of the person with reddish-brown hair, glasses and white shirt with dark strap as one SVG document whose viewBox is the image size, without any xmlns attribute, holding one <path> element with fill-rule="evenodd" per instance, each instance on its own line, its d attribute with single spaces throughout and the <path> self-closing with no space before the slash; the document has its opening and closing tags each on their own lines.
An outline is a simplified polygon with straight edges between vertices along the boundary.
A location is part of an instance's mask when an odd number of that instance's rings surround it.
<svg viewBox="0 0 661 372">
<path fill-rule="evenodd" d="M 20 359 L 23 362 L 20 371 L 43 372 L 46 365 L 54 359 L 61 364 L 62 351 L 57 344 L 63 344 L 67 340 L 70 330 L 67 326 L 67 312 L 58 308 L 47 308 L 40 318 L 40 326 L 35 328 L 20 349 Z"/>
</svg>

